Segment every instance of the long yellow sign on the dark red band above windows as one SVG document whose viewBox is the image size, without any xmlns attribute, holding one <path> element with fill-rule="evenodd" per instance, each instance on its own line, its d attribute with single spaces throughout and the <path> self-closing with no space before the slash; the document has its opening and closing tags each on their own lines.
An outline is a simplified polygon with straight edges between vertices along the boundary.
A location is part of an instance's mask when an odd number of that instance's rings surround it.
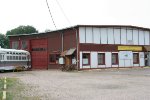
<svg viewBox="0 0 150 100">
<path fill-rule="evenodd" d="M 142 51 L 141 46 L 118 46 L 118 50 Z"/>
</svg>

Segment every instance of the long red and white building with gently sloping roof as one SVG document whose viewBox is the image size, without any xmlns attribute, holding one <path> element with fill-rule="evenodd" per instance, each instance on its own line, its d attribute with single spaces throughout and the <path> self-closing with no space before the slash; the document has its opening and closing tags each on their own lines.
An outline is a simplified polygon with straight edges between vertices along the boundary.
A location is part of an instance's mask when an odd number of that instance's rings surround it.
<svg viewBox="0 0 150 100">
<path fill-rule="evenodd" d="M 76 62 L 77 69 L 150 65 L 150 29 L 126 25 L 77 25 L 61 30 L 9 36 L 10 48 L 31 53 L 32 69 L 59 68 Z"/>
</svg>

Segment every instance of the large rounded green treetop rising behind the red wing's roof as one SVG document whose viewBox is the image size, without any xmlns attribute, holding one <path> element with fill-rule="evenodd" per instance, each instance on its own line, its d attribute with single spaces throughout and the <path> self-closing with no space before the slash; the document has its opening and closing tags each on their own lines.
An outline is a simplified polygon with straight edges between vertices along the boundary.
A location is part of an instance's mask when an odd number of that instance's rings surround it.
<svg viewBox="0 0 150 100">
<path fill-rule="evenodd" d="M 31 34 L 31 33 L 37 33 L 38 31 L 33 26 L 19 26 L 17 28 L 14 28 L 10 31 L 7 31 L 6 35 L 18 35 L 18 34 Z"/>
</svg>

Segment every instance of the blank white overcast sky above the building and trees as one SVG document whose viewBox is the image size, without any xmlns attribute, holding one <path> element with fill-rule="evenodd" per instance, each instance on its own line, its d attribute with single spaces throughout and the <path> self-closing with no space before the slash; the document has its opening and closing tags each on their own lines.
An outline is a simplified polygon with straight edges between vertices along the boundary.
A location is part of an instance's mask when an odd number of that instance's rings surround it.
<svg viewBox="0 0 150 100">
<path fill-rule="evenodd" d="M 57 28 L 77 24 L 135 25 L 150 28 L 150 0 L 48 0 Z M 19 25 L 55 30 L 46 0 L 0 0 L 0 33 Z"/>
</svg>

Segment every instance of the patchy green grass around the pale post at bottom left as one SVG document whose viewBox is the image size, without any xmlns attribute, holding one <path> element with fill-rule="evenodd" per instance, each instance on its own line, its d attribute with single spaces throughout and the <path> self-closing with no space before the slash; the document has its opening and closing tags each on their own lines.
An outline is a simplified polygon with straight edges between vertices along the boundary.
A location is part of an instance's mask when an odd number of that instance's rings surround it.
<svg viewBox="0 0 150 100">
<path fill-rule="evenodd" d="M 26 86 L 21 83 L 18 78 L 7 78 L 7 96 L 6 100 L 40 100 L 38 96 L 25 96 L 23 95 L 26 91 L 30 92 L 31 86 Z M 3 96 L 4 78 L 0 79 L 0 100 Z"/>
</svg>

